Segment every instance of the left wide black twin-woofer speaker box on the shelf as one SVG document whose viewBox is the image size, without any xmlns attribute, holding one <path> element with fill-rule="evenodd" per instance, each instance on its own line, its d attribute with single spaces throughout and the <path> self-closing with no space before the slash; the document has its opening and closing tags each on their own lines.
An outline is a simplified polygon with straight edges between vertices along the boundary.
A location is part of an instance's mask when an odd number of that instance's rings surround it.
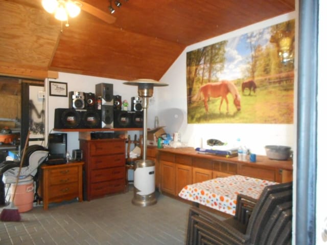
<svg viewBox="0 0 327 245">
<path fill-rule="evenodd" d="M 55 129 L 99 129 L 101 110 L 55 109 Z"/>
</svg>

